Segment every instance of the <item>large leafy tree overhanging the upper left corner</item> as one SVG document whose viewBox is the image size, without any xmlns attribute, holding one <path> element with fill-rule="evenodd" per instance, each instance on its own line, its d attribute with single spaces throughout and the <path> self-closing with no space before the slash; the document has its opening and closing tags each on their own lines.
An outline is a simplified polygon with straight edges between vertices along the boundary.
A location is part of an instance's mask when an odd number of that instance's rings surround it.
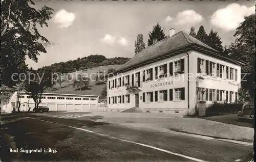
<svg viewBox="0 0 256 162">
<path fill-rule="evenodd" d="M 37 62 L 39 53 L 46 53 L 45 46 L 51 44 L 37 28 L 48 26 L 53 9 L 36 10 L 33 5 L 31 0 L 1 1 L 1 85 L 16 85 L 18 75 L 12 79 L 12 74 L 28 70 L 26 56 Z"/>
</svg>

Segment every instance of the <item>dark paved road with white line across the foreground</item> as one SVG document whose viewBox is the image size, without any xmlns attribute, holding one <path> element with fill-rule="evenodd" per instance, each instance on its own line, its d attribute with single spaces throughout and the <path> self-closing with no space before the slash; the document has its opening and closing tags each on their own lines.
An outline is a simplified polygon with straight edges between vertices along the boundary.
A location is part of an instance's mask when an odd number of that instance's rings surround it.
<svg viewBox="0 0 256 162">
<path fill-rule="evenodd" d="M 10 153 L 9 148 L 57 152 Z M 2 161 L 248 161 L 252 150 L 252 146 L 91 120 L 1 116 Z"/>
</svg>

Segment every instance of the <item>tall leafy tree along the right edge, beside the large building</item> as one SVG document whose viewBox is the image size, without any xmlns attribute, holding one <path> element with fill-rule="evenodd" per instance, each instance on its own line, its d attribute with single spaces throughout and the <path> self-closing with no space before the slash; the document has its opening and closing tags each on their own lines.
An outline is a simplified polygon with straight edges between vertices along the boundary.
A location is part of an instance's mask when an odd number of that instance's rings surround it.
<svg viewBox="0 0 256 162">
<path fill-rule="evenodd" d="M 253 91 L 255 86 L 255 20 L 256 15 L 252 14 L 246 16 L 244 21 L 240 23 L 236 29 L 236 33 L 233 35 L 236 37 L 234 43 L 231 43 L 228 51 L 232 53 L 231 57 L 243 60 L 248 64 L 241 67 L 241 73 L 246 73 L 244 81 L 241 82 L 241 86 L 249 90 L 251 96 L 254 96 Z M 253 68 L 254 67 L 254 68 Z M 246 81 L 245 81 L 246 80 Z"/>
</svg>

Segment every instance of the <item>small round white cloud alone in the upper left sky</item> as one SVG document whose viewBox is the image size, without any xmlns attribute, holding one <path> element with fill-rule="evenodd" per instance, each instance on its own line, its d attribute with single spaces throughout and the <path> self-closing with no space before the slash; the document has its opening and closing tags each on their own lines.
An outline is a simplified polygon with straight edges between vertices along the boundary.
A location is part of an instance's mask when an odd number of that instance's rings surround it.
<svg viewBox="0 0 256 162">
<path fill-rule="evenodd" d="M 59 28 L 68 28 L 73 24 L 76 16 L 72 12 L 67 12 L 66 10 L 62 9 L 59 10 L 53 17 L 54 23 L 59 25 Z"/>
</svg>

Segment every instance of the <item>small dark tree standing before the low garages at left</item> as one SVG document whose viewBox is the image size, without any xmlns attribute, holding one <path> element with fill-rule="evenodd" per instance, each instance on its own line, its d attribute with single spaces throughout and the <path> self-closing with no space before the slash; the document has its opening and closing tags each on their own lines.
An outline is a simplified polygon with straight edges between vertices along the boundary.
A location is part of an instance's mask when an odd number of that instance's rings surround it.
<svg viewBox="0 0 256 162">
<path fill-rule="evenodd" d="M 27 95 L 34 100 L 35 108 L 41 103 L 41 95 L 54 85 L 51 71 L 33 70 L 28 71 L 24 81 L 24 89 Z M 28 112 L 30 111 L 30 107 Z"/>
</svg>

